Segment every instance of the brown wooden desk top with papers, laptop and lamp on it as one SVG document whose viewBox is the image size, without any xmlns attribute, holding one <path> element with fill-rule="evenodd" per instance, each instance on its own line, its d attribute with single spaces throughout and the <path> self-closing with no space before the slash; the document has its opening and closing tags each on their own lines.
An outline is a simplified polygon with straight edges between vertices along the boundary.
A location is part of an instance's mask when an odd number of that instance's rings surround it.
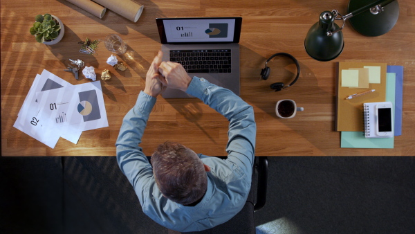
<svg viewBox="0 0 415 234">
<path fill-rule="evenodd" d="M 331 62 L 317 62 L 304 50 L 304 38 L 324 10 L 346 13 L 347 0 L 338 1 L 162 1 L 141 0 L 145 6 L 137 23 L 111 10 L 102 19 L 90 15 L 64 0 L 1 1 L 1 155 L 30 156 L 114 156 L 114 146 L 122 118 L 133 107 L 149 64 L 160 48 L 156 17 L 243 17 L 241 32 L 241 98 L 255 109 L 258 156 L 279 155 L 414 155 L 415 154 L 415 6 L 399 1 L 398 22 L 380 37 L 360 35 L 347 22 L 344 51 Z M 64 22 L 61 42 L 46 46 L 35 42 L 29 28 L 37 14 L 57 15 Z M 340 23 L 338 23 L 340 24 Z M 129 45 L 125 55 L 118 56 L 129 66 L 117 72 L 106 63 L 111 53 L 104 44 L 98 55 L 79 53 L 80 41 L 104 39 L 116 33 Z M 274 92 L 273 82 L 288 83 L 295 66 L 288 60 L 273 60 L 270 79 L 259 80 L 259 73 L 270 55 L 286 52 L 294 55 L 301 66 L 299 80 L 293 87 Z M 68 59 L 84 60 L 94 66 L 97 78 L 103 69 L 112 69 L 113 78 L 102 81 L 109 127 L 82 133 L 77 145 L 60 139 L 51 149 L 13 127 L 17 113 L 37 73 L 43 69 L 71 84 L 90 82 L 80 75 L 64 71 Z M 394 149 L 340 148 L 340 132 L 334 131 L 335 63 L 386 62 L 403 65 L 403 134 L 395 138 Z M 275 104 L 293 99 L 305 111 L 292 119 L 275 115 Z M 158 98 L 149 118 L 141 146 L 151 155 L 164 141 L 178 141 L 195 152 L 225 155 L 228 121 L 198 99 L 165 100 Z"/>
</svg>

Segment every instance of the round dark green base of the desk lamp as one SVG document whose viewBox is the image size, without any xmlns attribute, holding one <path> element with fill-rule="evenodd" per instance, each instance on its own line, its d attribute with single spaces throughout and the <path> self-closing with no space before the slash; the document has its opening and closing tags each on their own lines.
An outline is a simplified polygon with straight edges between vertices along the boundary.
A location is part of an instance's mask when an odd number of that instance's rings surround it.
<svg viewBox="0 0 415 234">
<path fill-rule="evenodd" d="M 350 0 L 347 12 L 352 12 L 362 8 L 369 3 L 374 3 L 374 0 Z M 351 26 L 358 31 L 358 33 L 369 36 L 377 37 L 383 35 L 392 28 L 394 28 L 396 21 L 399 17 L 399 4 L 398 1 L 392 1 L 385 6 L 383 12 L 379 12 L 374 15 L 370 10 L 355 15 L 349 19 Z"/>
</svg>

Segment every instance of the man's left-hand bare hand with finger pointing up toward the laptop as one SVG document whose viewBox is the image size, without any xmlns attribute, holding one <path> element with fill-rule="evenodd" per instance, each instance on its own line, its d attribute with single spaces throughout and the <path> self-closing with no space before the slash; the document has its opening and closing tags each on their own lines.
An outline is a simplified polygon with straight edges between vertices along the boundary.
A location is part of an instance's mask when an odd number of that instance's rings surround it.
<svg viewBox="0 0 415 234">
<path fill-rule="evenodd" d="M 161 58 L 163 57 L 163 53 L 158 51 L 156 57 L 154 57 L 153 62 L 149 67 L 149 71 L 147 71 L 147 76 L 145 78 L 145 89 L 144 92 L 147 93 L 149 96 L 157 98 L 158 94 L 163 93 L 166 87 L 160 82 L 160 73 L 158 73 L 158 66 L 160 66 Z"/>
</svg>

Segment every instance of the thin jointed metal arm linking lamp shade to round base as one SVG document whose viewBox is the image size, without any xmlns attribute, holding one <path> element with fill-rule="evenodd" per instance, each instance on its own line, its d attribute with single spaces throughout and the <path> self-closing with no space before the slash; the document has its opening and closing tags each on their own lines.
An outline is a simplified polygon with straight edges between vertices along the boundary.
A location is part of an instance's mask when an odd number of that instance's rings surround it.
<svg viewBox="0 0 415 234">
<path fill-rule="evenodd" d="M 376 15 L 379 12 L 382 12 L 383 7 L 387 6 L 387 4 L 391 3 L 392 1 L 395 1 L 395 0 L 378 0 L 378 1 L 375 1 L 374 3 L 367 4 L 366 6 L 363 6 L 359 9 L 357 9 L 357 10 L 353 10 L 352 12 L 350 12 L 347 15 L 340 15 L 338 10 L 332 10 L 331 12 L 333 13 L 335 19 L 342 20 L 343 24 L 340 28 L 338 28 L 336 30 L 328 31 L 327 36 L 330 37 L 334 33 L 337 33 L 338 31 L 342 30 L 343 27 L 344 27 L 344 23 L 347 19 L 350 19 L 351 17 L 353 17 L 355 15 L 359 15 L 360 13 L 365 12 L 366 10 L 370 10 L 372 14 Z M 340 18 L 338 18 L 338 15 L 340 15 Z"/>
</svg>

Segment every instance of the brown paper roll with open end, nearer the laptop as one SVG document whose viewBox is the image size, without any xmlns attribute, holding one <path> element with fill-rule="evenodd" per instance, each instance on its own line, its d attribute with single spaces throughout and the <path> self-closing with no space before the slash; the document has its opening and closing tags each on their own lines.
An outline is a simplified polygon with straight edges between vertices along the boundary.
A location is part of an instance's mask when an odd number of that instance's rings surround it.
<svg viewBox="0 0 415 234">
<path fill-rule="evenodd" d="M 140 18 L 144 6 L 131 0 L 93 0 L 134 23 Z"/>
</svg>

